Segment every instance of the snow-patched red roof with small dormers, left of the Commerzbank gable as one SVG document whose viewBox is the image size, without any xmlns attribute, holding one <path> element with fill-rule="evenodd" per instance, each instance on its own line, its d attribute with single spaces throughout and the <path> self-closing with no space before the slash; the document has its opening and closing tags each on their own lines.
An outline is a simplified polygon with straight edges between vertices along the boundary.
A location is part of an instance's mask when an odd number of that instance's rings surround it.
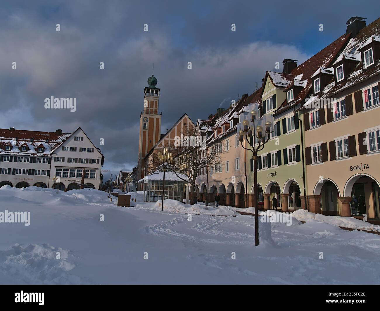
<svg viewBox="0 0 380 311">
<path fill-rule="evenodd" d="M 62 133 L 60 130 L 56 132 L 40 132 L 0 129 L 0 153 L 1 154 L 28 154 L 28 155 L 49 155 L 52 150 L 62 144 L 71 133 Z M 11 150 L 5 151 L 5 145 L 11 145 Z M 27 144 L 28 150 L 21 152 L 21 146 Z M 43 152 L 37 152 L 38 146 L 42 145 Z"/>
</svg>

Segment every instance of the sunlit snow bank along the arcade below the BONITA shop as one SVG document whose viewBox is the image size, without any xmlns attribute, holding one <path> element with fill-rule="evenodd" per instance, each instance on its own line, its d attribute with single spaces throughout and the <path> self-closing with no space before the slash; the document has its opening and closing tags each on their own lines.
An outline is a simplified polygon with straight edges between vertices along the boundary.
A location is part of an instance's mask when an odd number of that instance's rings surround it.
<svg viewBox="0 0 380 311">
<path fill-rule="evenodd" d="M 336 225 L 339 227 L 380 232 L 380 226 L 372 225 L 369 222 L 362 221 L 354 217 L 326 216 L 323 214 L 310 213 L 305 209 L 298 209 L 293 213 L 293 217 L 299 221 L 315 219 L 316 221 L 326 222 L 328 224 Z"/>
</svg>

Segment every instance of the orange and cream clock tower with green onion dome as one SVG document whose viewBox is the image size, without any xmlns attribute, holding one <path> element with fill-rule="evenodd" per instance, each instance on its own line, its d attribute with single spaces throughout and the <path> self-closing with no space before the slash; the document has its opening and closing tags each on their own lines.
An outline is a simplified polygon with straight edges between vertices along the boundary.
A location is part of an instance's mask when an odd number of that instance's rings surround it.
<svg viewBox="0 0 380 311">
<path fill-rule="evenodd" d="M 146 175 L 144 157 L 161 139 L 162 112 L 158 111 L 160 89 L 156 87 L 157 78 L 154 75 L 149 77 L 148 85 L 144 88 L 144 106 L 140 114 L 138 180 Z"/>
</svg>

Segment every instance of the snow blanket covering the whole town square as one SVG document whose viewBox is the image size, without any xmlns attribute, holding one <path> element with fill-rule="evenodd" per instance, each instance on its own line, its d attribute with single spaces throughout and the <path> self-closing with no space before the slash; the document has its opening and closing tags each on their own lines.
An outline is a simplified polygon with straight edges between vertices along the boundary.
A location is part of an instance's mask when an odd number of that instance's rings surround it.
<svg viewBox="0 0 380 311">
<path fill-rule="evenodd" d="M 2 187 L 0 212 L 30 212 L 30 225 L 0 223 L 0 283 L 380 284 L 379 235 L 302 214 L 305 224 L 260 223 L 255 247 L 254 217 L 236 209 L 165 200 L 161 212 L 141 193 L 119 208 L 106 195 Z"/>
</svg>

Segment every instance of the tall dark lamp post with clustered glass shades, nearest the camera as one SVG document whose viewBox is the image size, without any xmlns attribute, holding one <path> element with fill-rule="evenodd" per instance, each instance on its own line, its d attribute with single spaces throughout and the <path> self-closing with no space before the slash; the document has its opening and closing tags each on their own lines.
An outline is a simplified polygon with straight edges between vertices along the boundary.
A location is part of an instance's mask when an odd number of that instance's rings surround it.
<svg viewBox="0 0 380 311">
<path fill-rule="evenodd" d="M 260 115 L 259 105 L 249 104 L 249 115 L 244 116 L 244 120 L 237 125 L 237 135 L 239 135 L 239 141 L 243 143 L 245 140 L 249 143 L 250 148 L 242 147 L 246 150 L 252 151 L 253 159 L 253 176 L 254 176 L 254 202 L 255 202 L 255 245 L 259 244 L 259 218 L 258 218 L 258 195 L 257 195 L 257 159 L 258 152 L 263 150 L 264 145 L 268 142 L 271 132 L 273 132 L 273 120 L 272 114 L 265 114 L 259 118 Z M 240 118 L 242 119 L 242 117 Z M 265 131 L 263 132 L 263 127 Z M 252 142 L 250 139 L 252 138 Z M 257 143 L 256 143 L 256 139 Z"/>
</svg>

